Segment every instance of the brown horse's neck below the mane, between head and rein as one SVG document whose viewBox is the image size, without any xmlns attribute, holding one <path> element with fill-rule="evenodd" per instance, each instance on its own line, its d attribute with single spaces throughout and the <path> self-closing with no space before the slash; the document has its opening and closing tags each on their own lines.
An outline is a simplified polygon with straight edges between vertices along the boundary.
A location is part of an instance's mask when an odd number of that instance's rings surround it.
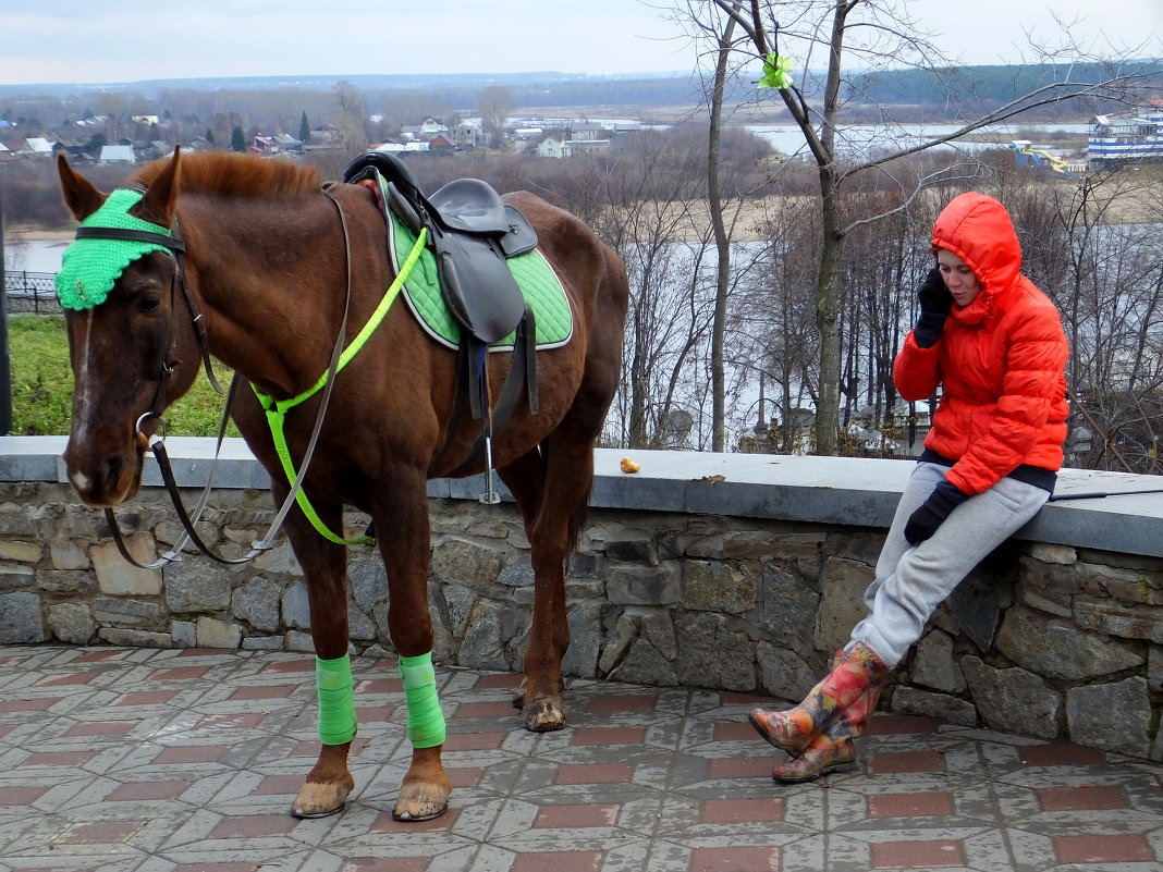
<svg viewBox="0 0 1163 872">
<path fill-rule="evenodd" d="M 322 195 L 284 212 L 191 196 L 178 213 L 211 353 L 274 396 L 314 384 L 327 369 L 345 291 L 334 207 Z"/>
</svg>

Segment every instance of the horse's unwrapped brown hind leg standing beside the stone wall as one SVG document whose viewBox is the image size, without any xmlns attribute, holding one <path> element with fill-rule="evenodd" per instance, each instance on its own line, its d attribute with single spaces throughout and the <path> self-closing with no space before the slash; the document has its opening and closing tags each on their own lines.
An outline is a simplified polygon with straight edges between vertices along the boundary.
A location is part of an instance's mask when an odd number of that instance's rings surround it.
<svg viewBox="0 0 1163 872">
<path fill-rule="evenodd" d="M 525 679 L 514 699 L 522 724 L 534 732 L 565 726 L 562 705 L 562 659 L 570 644 L 565 610 L 565 558 L 570 550 L 570 519 L 583 508 L 593 479 L 590 444 L 582 452 L 542 457 L 534 451 L 499 470 L 525 521 L 534 572 L 533 626 L 525 653 Z"/>
</svg>

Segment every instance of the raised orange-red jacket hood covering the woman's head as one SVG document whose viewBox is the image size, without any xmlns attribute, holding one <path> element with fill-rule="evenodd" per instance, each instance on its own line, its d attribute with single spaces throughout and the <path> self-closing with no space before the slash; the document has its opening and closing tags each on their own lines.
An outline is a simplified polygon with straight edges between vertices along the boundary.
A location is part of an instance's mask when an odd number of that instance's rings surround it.
<svg viewBox="0 0 1163 872">
<path fill-rule="evenodd" d="M 933 244 L 964 260 L 986 296 L 1007 291 L 1021 271 L 1021 245 L 1009 213 L 992 196 L 975 191 L 955 196 L 941 210 L 933 226 Z"/>
</svg>

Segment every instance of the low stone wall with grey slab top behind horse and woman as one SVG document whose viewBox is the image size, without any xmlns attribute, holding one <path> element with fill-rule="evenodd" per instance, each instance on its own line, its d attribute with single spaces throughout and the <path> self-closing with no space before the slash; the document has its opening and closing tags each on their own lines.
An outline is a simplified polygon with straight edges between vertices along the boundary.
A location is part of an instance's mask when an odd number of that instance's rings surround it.
<svg viewBox="0 0 1163 872">
<path fill-rule="evenodd" d="M 643 474 L 632 478 L 616 472 L 615 457 L 599 456 L 590 523 L 568 571 L 568 674 L 802 695 L 863 615 L 893 492 L 911 464 L 834 462 L 826 474 L 821 458 L 755 466 L 643 452 Z M 117 553 L 104 515 L 81 507 L 55 456 L 44 457 L 52 463 L 28 451 L 7 469 L 0 462 L 0 643 L 312 649 L 306 586 L 285 539 L 241 566 L 188 553 L 164 570 L 136 569 Z M 214 492 L 200 533 L 238 556 L 273 512 L 245 457 L 229 463 L 227 478 L 244 480 Z M 197 457 L 185 474 L 205 477 L 205 465 Z M 692 477 L 692 465 L 707 474 Z M 865 469 L 875 486 L 861 480 Z M 1143 486 L 1133 478 L 1101 485 Z M 429 491 L 435 658 L 520 671 L 529 545 L 512 503 L 480 505 L 477 485 Z M 1144 520 L 1163 524 L 1157 508 L 1121 519 L 1091 501 L 1043 509 L 1040 536 L 1026 535 L 1035 524 L 1003 545 L 941 607 L 882 708 L 1163 759 L 1163 557 L 1154 553 L 1163 537 L 1137 549 L 1144 553 L 1094 546 Z M 1062 512 L 1084 513 L 1085 522 Z M 180 533 L 157 487 L 119 519 L 143 562 Z M 365 524 L 348 517 L 351 534 Z M 1104 524 L 1105 534 L 1094 530 Z M 1054 541 L 1079 528 L 1089 528 L 1076 534 L 1086 542 Z M 373 548 L 351 549 L 349 574 L 354 650 L 390 651 Z"/>
</svg>

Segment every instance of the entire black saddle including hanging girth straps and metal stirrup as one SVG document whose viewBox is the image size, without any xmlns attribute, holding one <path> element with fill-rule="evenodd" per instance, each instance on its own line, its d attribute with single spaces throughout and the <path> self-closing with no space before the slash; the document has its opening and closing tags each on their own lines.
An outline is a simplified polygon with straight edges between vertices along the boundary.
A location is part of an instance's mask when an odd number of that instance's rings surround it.
<svg viewBox="0 0 1163 872">
<path fill-rule="evenodd" d="M 537 245 L 537 233 L 515 207 L 480 179 L 456 179 L 430 196 L 424 195 L 412 170 L 387 152 L 369 151 L 352 160 L 343 181 L 376 179 L 386 192 L 381 207 L 391 210 L 412 233 L 428 230 L 440 279 L 441 295 L 461 326 L 457 358 L 456 406 L 444 444 L 431 462 L 436 467 L 451 446 L 464 407 L 481 421 L 481 435 L 457 466 L 485 455 L 486 492 L 480 501 L 495 503 L 492 487 L 492 436 L 508 420 L 522 385 L 527 385 L 529 412 L 537 414 L 536 327 L 533 309 L 506 260 Z M 391 216 L 385 215 L 388 220 Z M 488 345 L 515 334 L 513 364 L 495 408 L 485 377 Z"/>
</svg>

